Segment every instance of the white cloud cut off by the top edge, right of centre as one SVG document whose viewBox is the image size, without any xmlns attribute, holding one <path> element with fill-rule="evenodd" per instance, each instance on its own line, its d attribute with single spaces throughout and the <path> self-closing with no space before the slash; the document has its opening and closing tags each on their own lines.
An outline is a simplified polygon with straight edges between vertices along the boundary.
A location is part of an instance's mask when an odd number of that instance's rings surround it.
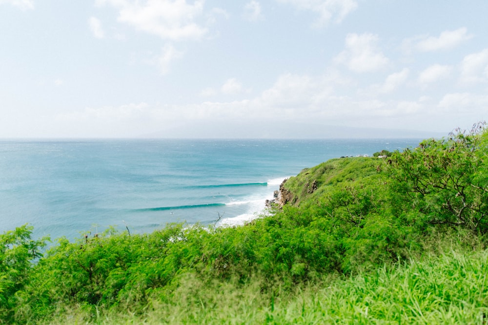
<svg viewBox="0 0 488 325">
<path fill-rule="evenodd" d="M 339 23 L 358 7 L 355 0 L 278 0 L 278 2 L 290 3 L 300 10 L 311 10 L 319 14 L 320 18 L 315 22 L 318 27 L 327 24 L 330 20 Z"/>
</svg>

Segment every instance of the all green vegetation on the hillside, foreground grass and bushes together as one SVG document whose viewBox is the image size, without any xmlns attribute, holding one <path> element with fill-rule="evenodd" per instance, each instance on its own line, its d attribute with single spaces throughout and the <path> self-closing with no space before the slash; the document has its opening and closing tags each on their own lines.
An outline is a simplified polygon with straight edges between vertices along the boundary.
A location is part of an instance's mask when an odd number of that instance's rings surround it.
<svg viewBox="0 0 488 325">
<path fill-rule="evenodd" d="M 487 315 L 488 134 L 340 158 L 245 227 L 0 235 L 0 323 L 476 323 Z M 36 263 L 34 263 L 34 260 Z"/>
</svg>

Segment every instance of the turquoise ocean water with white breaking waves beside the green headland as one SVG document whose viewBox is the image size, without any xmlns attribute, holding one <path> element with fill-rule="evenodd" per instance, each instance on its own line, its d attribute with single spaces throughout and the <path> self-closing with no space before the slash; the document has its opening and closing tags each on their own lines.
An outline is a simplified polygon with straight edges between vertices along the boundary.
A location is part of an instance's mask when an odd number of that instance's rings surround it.
<svg viewBox="0 0 488 325">
<path fill-rule="evenodd" d="M 240 224 L 286 177 L 420 139 L 0 141 L 0 232 L 80 236 L 168 222 Z"/>
</svg>

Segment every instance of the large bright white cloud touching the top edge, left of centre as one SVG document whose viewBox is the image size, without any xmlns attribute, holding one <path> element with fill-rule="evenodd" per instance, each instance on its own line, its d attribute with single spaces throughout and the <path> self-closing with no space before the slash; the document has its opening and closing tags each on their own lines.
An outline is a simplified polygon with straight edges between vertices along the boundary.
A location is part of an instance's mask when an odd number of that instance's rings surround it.
<svg viewBox="0 0 488 325">
<path fill-rule="evenodd" d="M 207 33 L 196 19 L 202 16 L 203 0 L 187 4 L 186 0 L 97 0 L 119 10 L 118 20 L 137 30 L 163 39 L 198 39 Z"/>
</svg>

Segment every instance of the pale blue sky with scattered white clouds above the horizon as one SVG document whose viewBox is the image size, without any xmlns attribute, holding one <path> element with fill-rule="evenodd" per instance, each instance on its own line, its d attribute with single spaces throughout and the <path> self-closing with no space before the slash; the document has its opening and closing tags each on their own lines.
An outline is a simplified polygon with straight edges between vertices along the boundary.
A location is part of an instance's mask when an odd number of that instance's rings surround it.
<svg viewBox="0 0 488 325">
<path fill-rule="evenodd" d="M 0 138 L 447 135 L 486 0 L 0 0 Z"/>
</svg>

